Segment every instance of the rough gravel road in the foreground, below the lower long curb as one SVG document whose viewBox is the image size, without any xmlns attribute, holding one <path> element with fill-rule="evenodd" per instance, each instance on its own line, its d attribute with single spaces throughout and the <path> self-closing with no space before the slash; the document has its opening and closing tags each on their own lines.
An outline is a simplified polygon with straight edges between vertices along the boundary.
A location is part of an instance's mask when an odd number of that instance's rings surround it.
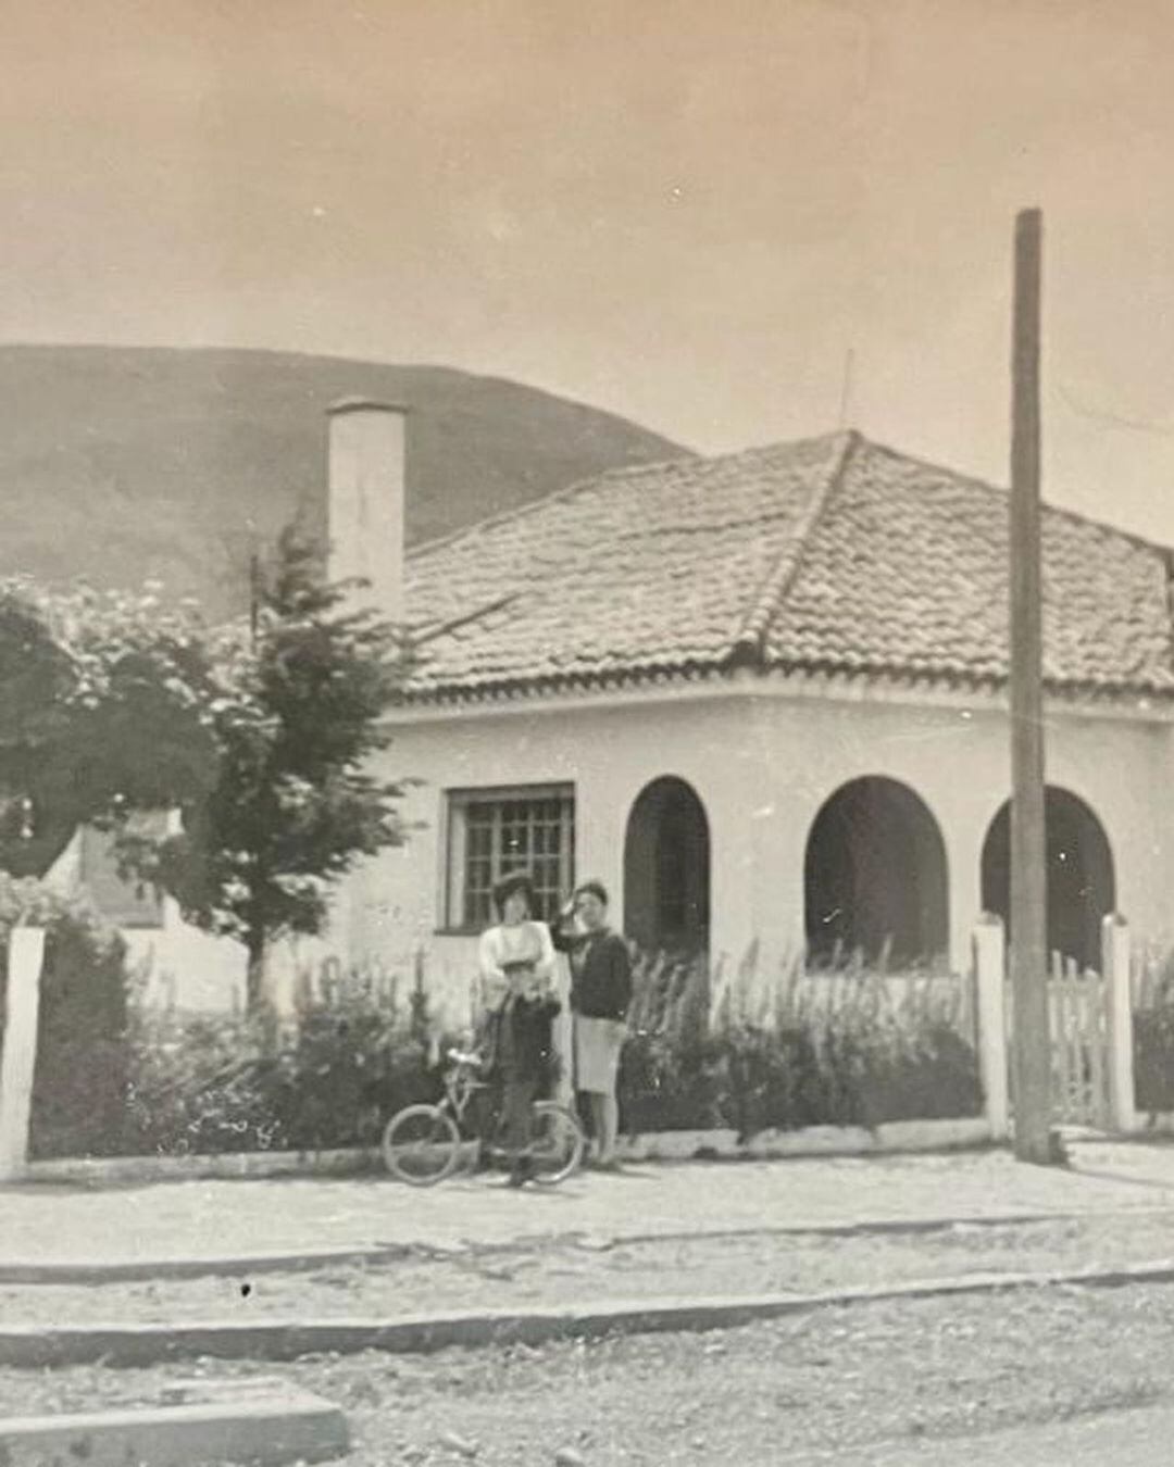
<svg viewBox="0 0 1174 1467">
<path fill-rule="evenodd" d="M 917 1441 L 938 1444 L 938 1463 L 967 1461 L 980 1432 L 1171 1402 L 1171 1358 L 1174 1288 L 1061 1288 L 429 1358 L 0 1372 L 0 1413 L 145 1401 L 195 1373 L 280 1375 L 343 1405 L 348 1467 L 795 1467 Z"/>
</svg>

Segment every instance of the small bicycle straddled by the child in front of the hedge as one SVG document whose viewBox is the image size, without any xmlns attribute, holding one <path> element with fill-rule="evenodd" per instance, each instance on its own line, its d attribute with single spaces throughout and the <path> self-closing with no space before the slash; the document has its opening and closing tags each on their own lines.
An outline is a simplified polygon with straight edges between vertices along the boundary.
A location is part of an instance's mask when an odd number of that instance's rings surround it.
<svg viewBox="0 0 1174 1467">
<path fill-rule="evenodd" d="M 383 1130 L 383 1163 L 392 1177 L 411 1187 L 434 1187 L 451 1177 L 461 1160 L 461 1152 L 471 1138 L 465 1112 L 477 1091 L 489 1090 L 478 1078 L 481 1056 L 451 1049 L 445 1074 L 445 1097 L 439 1105 L 409 1105 L 398 1111 Z M 500 1134 L 500 1121 L 495 1143 Z M 530 1177 L 555 1187 L 574 1175 L 583 1165 L 587 1138 L 583 1127 L 566 1106 L 556 1100 L 534 1102 Z M 490 1146 L 500 1157 L 503 1149 Z"/>
</svg>

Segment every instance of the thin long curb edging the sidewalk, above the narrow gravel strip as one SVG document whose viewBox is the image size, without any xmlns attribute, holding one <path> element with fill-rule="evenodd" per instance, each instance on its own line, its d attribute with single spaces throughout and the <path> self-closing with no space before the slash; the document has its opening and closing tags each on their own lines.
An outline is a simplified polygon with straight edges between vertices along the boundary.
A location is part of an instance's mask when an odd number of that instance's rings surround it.
<svg viewBox="0 0 1174 1467">
<path fill-rule="evenodd" d="M 1174 1204 L 1153 1207 L 1114 1207 L 1099 1212 L 1005 1212 L 976 1216 L 908 1216 L 873 1218 L 853 1222 L 823 1222 L 794 1219 L 791 1222 L 750 1225 L 738 1228 L 682 1228 L 668 1232 L 624 1232 L 594 1235 L 583 1231 L 558 1234 L 519 1234 L 508 1243 L 461 1244 L 442 1243 L 383 1243 L 370 1247 L 307 1248 L 291 1253 L 242 1253 L 223 1257 L 161 1257 L 113 1259 L 106 1263 L 75 1263 L 72 1260 L 9 1260 L 0 1262 L 0 1285 L 94 1285 L 141 1284 L 157 1279 L 247 1278 L 264 1273 L 310 1273 L 324 1267 L 380 1267 L 389 1263 L 433 1262 L 462 1257 L 492 1257 L 517 1253 L 527 1247 L 578 1247 L 588 1253 L 656 1243 L 687 1243 L 691 1240 L 765 1238 L 765 1237 L 917 1237 L 948 1232 L 951 1228 L 1017 1228 L 1040 1222 L 1080 1222 L 1086 1218 L 1136 1218 L 1170 1213 Z"/>
</svg>

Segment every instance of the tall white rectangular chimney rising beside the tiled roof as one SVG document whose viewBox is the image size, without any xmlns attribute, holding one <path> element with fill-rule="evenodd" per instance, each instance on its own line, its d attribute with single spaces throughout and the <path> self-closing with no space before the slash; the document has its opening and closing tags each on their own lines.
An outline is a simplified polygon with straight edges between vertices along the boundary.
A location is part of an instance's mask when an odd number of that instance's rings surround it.
<svg viewBox="0 0 1174 1467">
<path fill-rule="evenodd" d="M 361 599 L 402 622 L 406 409 L 348 398 L 327 420 L 330 579 L 370 582 Z"/>
</svg>

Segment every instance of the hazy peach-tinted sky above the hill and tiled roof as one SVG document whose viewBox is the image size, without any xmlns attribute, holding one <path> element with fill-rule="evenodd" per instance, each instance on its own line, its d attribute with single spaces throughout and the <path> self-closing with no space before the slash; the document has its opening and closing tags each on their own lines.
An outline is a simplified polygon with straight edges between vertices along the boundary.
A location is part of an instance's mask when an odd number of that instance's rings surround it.
<svg viewBox="0 0 1174 1467">
<path fill-rule="evenodd" d="M 0 0 L 0 337 L 500 373 L 1174 541 L 1174 0 Z"/>
</svg>

